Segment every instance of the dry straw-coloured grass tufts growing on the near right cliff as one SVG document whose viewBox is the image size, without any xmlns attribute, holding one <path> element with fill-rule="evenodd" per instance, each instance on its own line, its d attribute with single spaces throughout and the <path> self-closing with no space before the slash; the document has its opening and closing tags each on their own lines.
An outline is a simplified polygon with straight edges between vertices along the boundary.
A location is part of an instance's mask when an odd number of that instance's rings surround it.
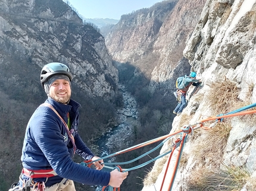
<svg viewBox="0 0 256 191">
<path fill-rule="evenodd" d="M 209 84 L 207 84 L 209 85 Z M 228 113 L 241 107 L 248 106 L 250 101 L 239 100 L 238 95 L 241 89 L 238 88 L 235 82 L 225 79 L 223 81 L 213 82 L 210 85 L 211 90 L 207 95 L 207 102 L 211 110 L 211 114 L 217 115 Z M 248 85 L 249 98 L 252 96 L 254 84 Z M 182 114 L 179 126 L 186 126 L 190 123 L 192 117 L 188 114 Z M 256 114 L 247 114 L 239 116 L 239 119 L 251 125 L 256 123 Z M 212 122 L 212 121 L 211 121 Z M 187 185 L 190 191 L 198 190 L 241 190 L 241 187 L 249 181 L 250 174 L 245 168 L 226 167 L 225 170 L 220 170 L 223 163 L 223 152 L 227 147 L 227 139 L 229 138 L 230 130 L 232 129 L 231 119 L 225 118 L 223 122 L 217 123 L 211 130 L 196 129 L 191 137 L 192 151 L 197 163 L 200 164 L 192 171 Z M 210 122 L 204 126 L 209 126 Z M 171 144 L 168 143 L 170 146 Z M 188 163 L 188 155 L 182 154 L 180 167 L 186 167 Z M 167 160 L 167 159 L 166 159 Z M 158 175 L 166 163 L 166 160 L 161 160 L 145 178 L 144 185 L 152 185 L 157 180 Z M 223 166 L 223 165 L 222 165 Z M 252 180 L 248 187 L 256 190 L 256 183 Z"/>
</svg>

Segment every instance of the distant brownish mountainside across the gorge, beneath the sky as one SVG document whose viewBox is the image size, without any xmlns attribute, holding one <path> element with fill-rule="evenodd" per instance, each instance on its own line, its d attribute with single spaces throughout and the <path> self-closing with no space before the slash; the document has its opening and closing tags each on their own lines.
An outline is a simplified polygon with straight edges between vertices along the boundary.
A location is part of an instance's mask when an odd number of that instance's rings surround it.
<svg viewBox="0 0 256 191">
<path fill-rule="evenodd" d="M 152 91 L 174 91 L 173 79 L 190 71 L 182 51 L 204 3 L 205 0 L 169 0 L 122 15 L 105 37 L 113 59 L 138 67 L 151 79 Z"/>
</svg>

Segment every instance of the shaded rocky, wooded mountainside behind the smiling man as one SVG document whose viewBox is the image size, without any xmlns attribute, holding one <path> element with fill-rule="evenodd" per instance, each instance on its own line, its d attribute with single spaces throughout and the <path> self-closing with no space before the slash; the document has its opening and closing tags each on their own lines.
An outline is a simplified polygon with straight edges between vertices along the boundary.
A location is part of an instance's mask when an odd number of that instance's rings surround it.
<svg viewBox="0 0 256 191">
<path fill-rule="evenodd" d="M 63 1 L 1 0 L 0 10 L 0 190 L 6 191 L 21 173 L 27 122 L 47 98 L 42 66 L 62 62 L 71 69 L 72 98 L 82 104 L 80 133 L 88 145 L 118 124 L 118 72 L 98 30 Z"/>
</svg>

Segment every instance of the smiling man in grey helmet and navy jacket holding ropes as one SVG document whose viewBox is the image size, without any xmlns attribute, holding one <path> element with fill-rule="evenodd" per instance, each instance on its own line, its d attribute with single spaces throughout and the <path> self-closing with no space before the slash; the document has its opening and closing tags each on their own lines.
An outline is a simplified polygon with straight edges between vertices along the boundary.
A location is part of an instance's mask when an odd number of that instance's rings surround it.
<svg viewBox="0 0 256 191">
<path fill-rule="evenodd" d="M 117 170 L 99 171 L 103 160 L 90 151 L 77 132 L 80 104 L 70 99 L 71 79 L 70 69 L 63 63 L 52 62 L 42 68 L 40 83 L 48 99 L 27 124 L 21 156 L 24 168 L 18 185 L 25 185 L 25 190 L 26 186 L 45 185 L 46 191 L 73 191 L 73 180 L 120 187 L 128 175 Z M 85 160 L 98 160 L 94 163 L 96 169 L 74 163 L 75 152 Z M 31 184 L 29 177 L 33 177 Z"/>
</svg>

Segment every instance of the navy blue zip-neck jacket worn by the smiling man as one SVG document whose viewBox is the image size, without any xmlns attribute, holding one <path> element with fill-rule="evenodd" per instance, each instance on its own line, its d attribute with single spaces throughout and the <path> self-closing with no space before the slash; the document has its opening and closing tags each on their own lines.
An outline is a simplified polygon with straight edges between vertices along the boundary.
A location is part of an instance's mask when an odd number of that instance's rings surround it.
<svg viewBox="0 0 256 191">
<path fill-rule="evenodd" d="M 65 105 L 48 98 L 45 103 L 51 104 L 67 123 L 69 113 L 71 130 L 76 144 L 76 153 L 85 160 L 94 155 L 85 145 L 77 132 L 79 124 L 80 104 L 74 100 Z M 21 161 L 23 167 L 29 170 L 53 169 L 58 176 L 50 177 L 45 183 L 51 186 L 61 182 L 63 178 L 75 182 L 107 186 L 110 182 L 110 173 L 88 168 L 74 163 L 73 144 L 68 138 L 67 130 L 60 117 L 49 107 L 39 106 L 27 124 L 26 135 L 22 149 Z M 22 176 L 27 179 L 26 176 Z M 35 182 L 46 179 L 34 179 Z"/>
</svg>

